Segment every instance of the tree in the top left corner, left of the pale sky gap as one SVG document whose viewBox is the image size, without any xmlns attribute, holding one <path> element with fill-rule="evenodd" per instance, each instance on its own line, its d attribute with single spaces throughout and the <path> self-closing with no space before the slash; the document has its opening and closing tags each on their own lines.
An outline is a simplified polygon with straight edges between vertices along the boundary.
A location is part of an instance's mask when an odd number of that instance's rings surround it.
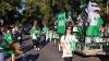
<svg viewBox="0 0 109 61">
<path fill-rule="evenodd" d="M 17 4 L 19 0 L 0 0 L 0 19 L 3 19 L 5 23 L 11 22 L 9 15 L 12 16 Z"/>
</svg>

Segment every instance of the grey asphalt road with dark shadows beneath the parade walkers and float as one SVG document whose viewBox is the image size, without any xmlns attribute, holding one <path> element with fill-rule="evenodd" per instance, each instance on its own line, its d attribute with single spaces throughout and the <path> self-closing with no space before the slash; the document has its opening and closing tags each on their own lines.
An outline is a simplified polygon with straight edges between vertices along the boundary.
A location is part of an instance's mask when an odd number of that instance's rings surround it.
<svg viewBox="0 0 109 61">
<path fill-rule="evenodd" d="M 48 42 L 38 51 L 34 50 L 32 47 L 32 40 L 27 36 L 24 37 L 26 38 L 22 46 L 26 61 L 63 61 L 61 53 L 53 42 Z M 17 61 L 22 60 L 17 59 Z M 109 61 L 109 59 L 108 57 L 82 57 L 80 54 L 74 54 L 73 61 Z"/>
</svg>

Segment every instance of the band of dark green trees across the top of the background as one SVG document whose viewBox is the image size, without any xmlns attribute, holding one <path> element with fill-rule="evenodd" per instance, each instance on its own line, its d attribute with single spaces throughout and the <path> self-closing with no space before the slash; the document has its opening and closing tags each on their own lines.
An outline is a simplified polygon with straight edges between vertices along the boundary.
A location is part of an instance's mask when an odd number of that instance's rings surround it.
<svg viewBox="0 0 109 61">
<path fill-rule="evenodd" d="M 0 19 L 8 20 L 8 14 L 16 13 L 16 8 L 20 5 L 21 0 L 0 0 Z M 25 11 L 20 17 L 26 20 L 29 16 L 36 19 L 38 15 L 44 16 L 44 20 L 48 20 L 56 12 L 63 11 L 77 11 L 80 1 L 83 0 L 25 0 Z M 101 8 L 101 16 L 106 14 L 106 1 L 105 0 L 90 0 L 95 1 Z M 84 2 L 87 3 L 87 0 Z M 81 4 L 84 4 L 83 2 Z M 75 7 L 76 5 L 76 7 Z M 83 7 L 83 5 L 82 5 Z M 81 10 L 82 11 L 82 10 Z M 10 12 L 10 13 L 9 13 Z M 9 17 L 10 19 L 10 17 Z"/>
</svg>

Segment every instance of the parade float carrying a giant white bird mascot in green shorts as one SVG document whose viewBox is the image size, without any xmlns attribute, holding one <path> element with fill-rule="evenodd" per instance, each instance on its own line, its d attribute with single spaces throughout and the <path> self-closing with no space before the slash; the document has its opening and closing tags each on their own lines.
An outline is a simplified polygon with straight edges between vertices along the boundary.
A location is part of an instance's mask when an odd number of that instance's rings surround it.
<svg viewBox="0 0 109 61">
<path fill-rule="evenodd" d="M 75 52 L 85 56 L 109 54 L 108 38 L 101 37 L 99 33 L 99 28 L 104 24 L 99 12 L 98 4 L 89 1 L 87 8 L 78 15 L 77 30 L 75 32 L 83 34 L 77 35 L 80 41 L 76 44 Z"/>
</svg>

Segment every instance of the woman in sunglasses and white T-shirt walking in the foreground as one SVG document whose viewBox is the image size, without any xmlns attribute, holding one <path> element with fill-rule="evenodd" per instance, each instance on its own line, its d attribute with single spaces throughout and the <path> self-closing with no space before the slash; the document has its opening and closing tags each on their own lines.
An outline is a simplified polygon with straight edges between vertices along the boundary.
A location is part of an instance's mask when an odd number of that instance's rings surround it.
<svg viewBox="0 0 109 61">
<path fill-rule="evenodd" d="M 62 58 L 64 61 L 72 61 L 73 60 L 73 52 L 70 46 L 71 41 L 76 42 L 77 39 L 74 35 L 71 35 L 72 26 L 65 27 L 65 34 L 61 36 L 61 48 L 62 48 Z"/>
</svg>

